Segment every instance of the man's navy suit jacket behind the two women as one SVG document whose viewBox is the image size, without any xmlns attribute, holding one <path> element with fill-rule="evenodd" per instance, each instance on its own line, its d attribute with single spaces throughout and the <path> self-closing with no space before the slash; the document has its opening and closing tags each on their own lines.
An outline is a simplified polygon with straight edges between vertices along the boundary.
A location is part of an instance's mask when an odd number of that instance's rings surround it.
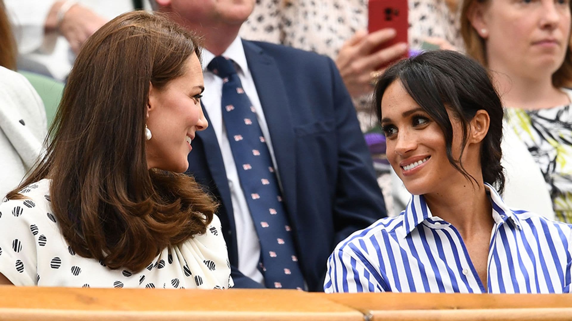
<svg viewBox="0 0 572 321">
<path fill-rule="evenodd" d="M 271 43 L 243 41 L 243 46 L 268 123 L 301 270 L 308 290 L 322 291 L 336 244 L 386 216 L 371 155 L 331 59 Z M 187 174 L 221 203 L 235 286 L 261 287 L 236 269 L 231 192 L 211 126 L 197 132 L 188 159 Z"/>
</svg>

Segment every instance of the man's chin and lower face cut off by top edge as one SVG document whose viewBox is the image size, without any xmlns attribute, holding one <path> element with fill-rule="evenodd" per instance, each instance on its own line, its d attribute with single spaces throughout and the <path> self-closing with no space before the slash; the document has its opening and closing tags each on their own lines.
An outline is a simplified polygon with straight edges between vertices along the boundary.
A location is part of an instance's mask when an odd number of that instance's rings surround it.
<svg viewBox="0 0 572 321">
<path fill-rule="evenodd" d="M 157 1 L 161 2 L 161 1 Z M 185 25 L 208 26 L 220 23 L 241 25 L 254 9 L 255 0 L 170 0 L 170 10 Z"/>
</svg>

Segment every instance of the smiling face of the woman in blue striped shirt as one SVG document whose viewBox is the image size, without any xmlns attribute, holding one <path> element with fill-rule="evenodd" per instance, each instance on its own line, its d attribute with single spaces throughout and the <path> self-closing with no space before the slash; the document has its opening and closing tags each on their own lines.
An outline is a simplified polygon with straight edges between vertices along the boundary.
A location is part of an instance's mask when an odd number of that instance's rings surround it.
<svg viewBox="0 0 572 321">
<path fill-rule="evenodd" d="M 387 138 L 387 159 L 411 194 L 443 192 L 467 178 L 447 158 L 446 143 L 439 125 L 396 80 L 382 97 L 382 128 Z M 460 133 L 459 121 L 451 119 L 453 133 Z M 454 135 L 452 157 L 458 159 L 461 139 Z M 463 153 L 466 164 L 468 153 Z M 477 157 L 478 159 L 478 157 Z"/>
</svg>

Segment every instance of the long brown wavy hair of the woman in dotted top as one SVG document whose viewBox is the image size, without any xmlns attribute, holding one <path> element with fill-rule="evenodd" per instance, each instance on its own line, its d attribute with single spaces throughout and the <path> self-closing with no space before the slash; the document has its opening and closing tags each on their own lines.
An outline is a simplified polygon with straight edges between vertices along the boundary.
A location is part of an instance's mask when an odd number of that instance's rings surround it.
<svg viewBox="0 0 572 321">
<path fill-rule="evenodd" d="M 202 234 L 216 203 L 192 177 L 148 170 L 149 87 L 184 73 L 200 49 L 193 34 L 134 11 L 85 42 L 46 139 L 46 154 L 7 198 L 51 179 L 53 214 L 69 246 L 109 268 L 140 271 L 165 247 Z"/>
</svg>

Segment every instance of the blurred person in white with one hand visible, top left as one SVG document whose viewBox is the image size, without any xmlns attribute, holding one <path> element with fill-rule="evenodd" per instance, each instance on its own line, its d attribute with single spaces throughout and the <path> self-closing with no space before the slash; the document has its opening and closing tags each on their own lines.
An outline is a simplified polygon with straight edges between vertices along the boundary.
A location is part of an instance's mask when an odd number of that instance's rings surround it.
<svg viewBox="0 0 572 321">
<path fill-rule="evenodd" d="M 18 43 L 18 69 L 65 81 L 86 39 L 148 0 L 5 0 Z"/>
</svg>

